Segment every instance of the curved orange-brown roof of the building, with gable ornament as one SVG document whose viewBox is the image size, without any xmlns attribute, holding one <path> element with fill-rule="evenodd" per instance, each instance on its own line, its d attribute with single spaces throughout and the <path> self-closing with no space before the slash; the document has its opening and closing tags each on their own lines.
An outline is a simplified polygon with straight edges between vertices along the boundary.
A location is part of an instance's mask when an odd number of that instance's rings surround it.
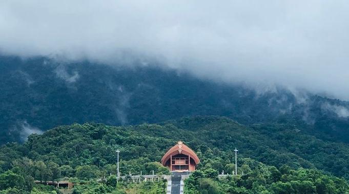
<svg viewBox="0 0 349 194">
<path fill-rule="evenodd" d="M 196 156 L 196 153 L 188 146 L 184 145 L 183 142 L 179 141 L 175 146 L 169 149 L 169 151 L 167 151 L 165 155 L 163 155 L 161 159 L 162 165 L 165 166 L 165 163 L 170 159 L 171 155 L 174 156 L 180 153 L 190 156 L 190 158 L 195 161 L 195 164 L 198 164 L 200 162 L 200 159 Z"/>
</svg>

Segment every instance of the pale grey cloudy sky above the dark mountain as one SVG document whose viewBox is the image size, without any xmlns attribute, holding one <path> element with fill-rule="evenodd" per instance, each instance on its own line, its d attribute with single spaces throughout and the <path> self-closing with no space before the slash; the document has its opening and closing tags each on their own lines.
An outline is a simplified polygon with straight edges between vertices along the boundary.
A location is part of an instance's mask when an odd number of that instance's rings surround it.
<svg viewBox="0 0 349 194">
<path fill-rule="evenodd" d="M 349 1 L 0 1 L 0 52 L 159 62 L 349 100 Z"/>
</svg>

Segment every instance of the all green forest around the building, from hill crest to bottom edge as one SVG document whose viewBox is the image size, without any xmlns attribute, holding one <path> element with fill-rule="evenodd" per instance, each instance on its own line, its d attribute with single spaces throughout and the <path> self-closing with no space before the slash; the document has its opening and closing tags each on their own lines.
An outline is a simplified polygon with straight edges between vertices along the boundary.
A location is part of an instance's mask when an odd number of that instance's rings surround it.
<svg viewBox="0 0 349 194">
<path fill-rule="evenodd" d="M 169 173 L 159 161 L 179 140 L 201 160 L 199 170 L 187 180 L 188 193 L 343 193 L 349 188 L 347 144 L 317 139 L 294 125 L 244 126 L 224 117 L 197 116 L 134 126 L 73 124 L 32 134 L 24 144 L 8 143 L 0 147 L 1 192 L 47 191 L 50 188 L 32 181 L 68 179 L 76 183 L 75 193 L 147 188 L 161 193 L 161 182 L 119 183 L 115 188 L 113 177 L 108 184 L 96 180 L 116 174 L 117 149 L 121 175 Z M 218 179 L 218 172 L 231 174 L 235 169 L 235 147 L 239 175 Z"/>
</svg>

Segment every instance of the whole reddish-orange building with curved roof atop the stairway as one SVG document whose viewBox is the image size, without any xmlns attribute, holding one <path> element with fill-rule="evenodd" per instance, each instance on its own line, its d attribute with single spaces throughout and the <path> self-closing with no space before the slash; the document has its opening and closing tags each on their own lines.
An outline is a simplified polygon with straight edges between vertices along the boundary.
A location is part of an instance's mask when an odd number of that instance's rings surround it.
<svg viewBox="0 0 349 194">
<path fill-rule="evenodd" d="M 200 162 L 196 153 L 179 141 L 161 159 L 161 164 L 171 171 L 193 171 Z"/>
</svg>

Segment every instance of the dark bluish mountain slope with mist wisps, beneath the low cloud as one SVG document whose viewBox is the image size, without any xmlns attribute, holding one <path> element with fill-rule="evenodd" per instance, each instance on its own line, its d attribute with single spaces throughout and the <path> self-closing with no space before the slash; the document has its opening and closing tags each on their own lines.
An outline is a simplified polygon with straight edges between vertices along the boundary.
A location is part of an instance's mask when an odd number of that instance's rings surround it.
<svg viewBox="0 0 349 194">
<path fill-rule="evenodd" d="M 158 123 L 220 115 L 242 124 L 282 123 L 349 142 L 348 102 L 276 87 L 200 80 L 156 64 L 106 66 L 0 57 L 0 143 L 72 123 Z"/>
</svg>

